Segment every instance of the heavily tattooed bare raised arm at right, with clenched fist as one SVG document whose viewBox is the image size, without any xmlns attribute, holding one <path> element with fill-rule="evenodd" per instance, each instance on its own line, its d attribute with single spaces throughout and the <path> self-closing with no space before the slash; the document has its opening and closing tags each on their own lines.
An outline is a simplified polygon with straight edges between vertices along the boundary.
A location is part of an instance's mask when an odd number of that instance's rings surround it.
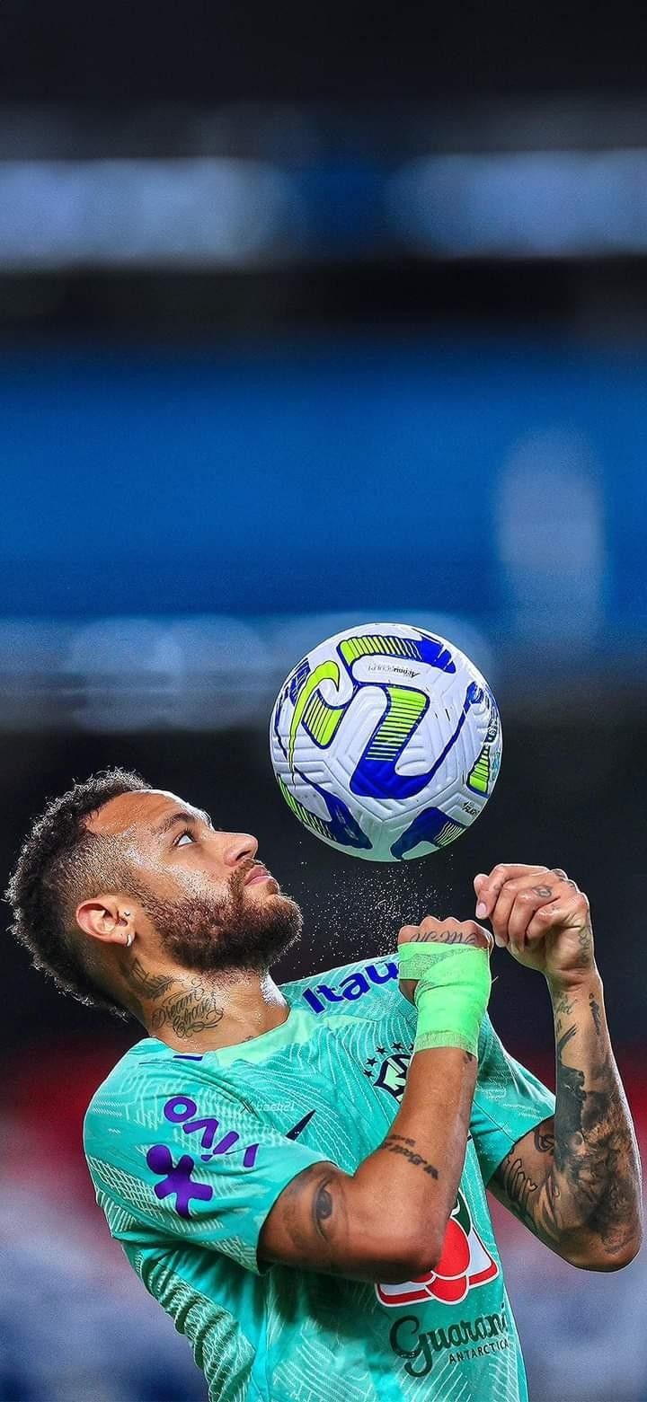
<svg viewBox="0 0 647 1402">
<path fill-rule="evenodd" d="M 545 973 L 556 1036 L 554 1120 L 514 1145 L 490 1187 L 571 1265 L 618 1270 L 641 1241 L 640 1159 L 588 900 L 563 871 L 545 866 L 500 866 L 474 885 L 497 944 Z"/>
</svg>

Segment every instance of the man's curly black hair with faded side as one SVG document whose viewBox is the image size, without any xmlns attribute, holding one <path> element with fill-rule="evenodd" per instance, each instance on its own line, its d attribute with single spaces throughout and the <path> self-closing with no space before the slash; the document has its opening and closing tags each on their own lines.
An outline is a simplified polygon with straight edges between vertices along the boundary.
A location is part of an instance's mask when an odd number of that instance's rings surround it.
<svg viewBox="0 0 647 1402">
<path fill-rule="evenodd" d="M 51 799 L 22 843 L 4 893 L 14 911 L 11 932 L 29 951 L 32 967 L 42 969 L 62 993 L 118 1018 L 129 1012 L 97 981 L 74 910 L 101 890 L 135 889 L 122 838 L 98 836 L 86 826 L 111 798 L 135 789 L 150 789 L 150 784 L 132 770 L 109 768 Z"/>
</svg>

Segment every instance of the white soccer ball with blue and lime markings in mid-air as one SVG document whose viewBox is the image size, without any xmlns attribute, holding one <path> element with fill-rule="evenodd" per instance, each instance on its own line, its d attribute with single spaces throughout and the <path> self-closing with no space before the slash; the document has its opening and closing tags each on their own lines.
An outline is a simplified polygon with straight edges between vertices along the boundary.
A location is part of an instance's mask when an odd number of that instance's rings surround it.
<svg viewBox="0 0 647 1402">
<path fill-rule="evenodd" d="M 276 697 L 281 794 L 323 843 L 371 862 L 427 857 L 479 817 L 501 763 L 487 681 L 425 628 L 366 622 L 313 648 Z"/>
</svg>

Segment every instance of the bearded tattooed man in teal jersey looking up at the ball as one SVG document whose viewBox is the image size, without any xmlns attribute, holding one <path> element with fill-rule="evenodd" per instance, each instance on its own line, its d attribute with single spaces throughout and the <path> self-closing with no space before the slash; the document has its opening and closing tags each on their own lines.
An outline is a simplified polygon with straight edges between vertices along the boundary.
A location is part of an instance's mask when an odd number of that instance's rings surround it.
<svg viewBox="0 0 647 1402">
<path fill-rule="evenodd" d="M 640 1242 L 640 1165 L 588 901 L 497 866 L 476 916 L 545 974 L 554 1098 L 486 1015 L 491 935 L 425 917 L 278 988 L 300 931 L 254 837 L 136 774 L 76 784 L 8 887 L 36 967 L 147 1036 L 93 1098 L 97 1199 L 212 1402 L 526 1398 L 486 1186 L 575 1266 Z M 554 1112 L 554 1113 L 553 1113 Z"/>
</svg>

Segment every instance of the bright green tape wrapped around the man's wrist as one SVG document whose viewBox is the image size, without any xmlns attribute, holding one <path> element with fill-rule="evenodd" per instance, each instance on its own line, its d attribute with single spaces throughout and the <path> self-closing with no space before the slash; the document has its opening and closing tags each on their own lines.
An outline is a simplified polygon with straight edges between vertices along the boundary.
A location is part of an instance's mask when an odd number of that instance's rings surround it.
<svg viewBox="0 0 647 1402">
<path fill-rule="evenodd" d="M 414 1052 L 462 1047 L 479 1053 L 490 997 L 490 959 L 474 945 L 400 945 L 400 979 L 417 979 Z"/>
</svg>

